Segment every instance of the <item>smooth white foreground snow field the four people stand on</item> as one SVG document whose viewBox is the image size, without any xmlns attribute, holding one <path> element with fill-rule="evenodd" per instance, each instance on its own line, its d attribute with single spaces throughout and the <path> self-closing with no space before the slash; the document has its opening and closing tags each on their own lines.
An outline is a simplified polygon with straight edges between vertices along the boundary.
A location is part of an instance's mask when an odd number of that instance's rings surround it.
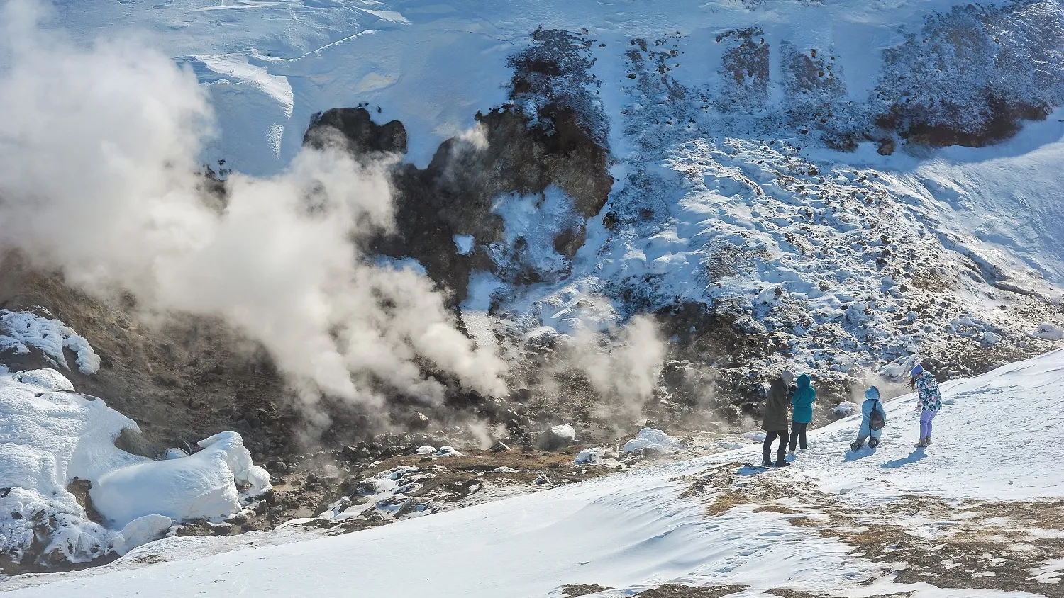
<svg viewBox="0 0 1064 598">
<path fill-rule="evenodd" d="M 11 595 L 528 598 L 558 597 L 564 584 L 588 583 L 612 588 L 594 596 L 616 598 L 672 582 L 749 586 L 730 594 L 736 598 L 781 588 L 852 597 L 1032 596 L 985 585 L 948 590 L 934 577 L 902 583 L 892 573 L 897 566 L 870 550 L 855 551 L 831 535 L 831 525 L 788 523 L 795 513 L 816 519 L 845 512 L 875 537 L 869 526 L 895 505 L 888 523 L 901 526 L 900 535 L 934 544 L 968 520 L 1004 533 L 1010 516 L 1023 510 L 1009 511 L 1015 502 L 1002 501 L 1064 497 L 1064 461 L 1044 448 L 1064 429 L 1064 351 L 949 382 L 943 391 L 946 406 L 928 449 L 913 447 L 914 398 L 905 395 L 885 404 L 888 420 L 877 450 L 848 451 L 859 424 L 851 417 L 811 433 L 809 451 L 783 469 L 743 475 L 742 463 L 760 458 L 758 447 L 743 448 L 336 537 L 68 574 Z M 724 485 L 712 485 L 721 479 Z M 700 488 L 708 491 L 693 492 Z M 760 507 L 720 502 L 750 489 L 779 494 Z M 914 511 L 914 500 L 924 507 Z M 942 515 L 935 501 L 957 509 Z M 972 519 L 987 505 L 1005 512 Z M 991 566 L 987 561 L 962 575 L 991 579 L 995 574 L 980 568 Z M 1032 578 L 1057 583 L 1064 562 L 1029 566 Z"/>
</svg>

